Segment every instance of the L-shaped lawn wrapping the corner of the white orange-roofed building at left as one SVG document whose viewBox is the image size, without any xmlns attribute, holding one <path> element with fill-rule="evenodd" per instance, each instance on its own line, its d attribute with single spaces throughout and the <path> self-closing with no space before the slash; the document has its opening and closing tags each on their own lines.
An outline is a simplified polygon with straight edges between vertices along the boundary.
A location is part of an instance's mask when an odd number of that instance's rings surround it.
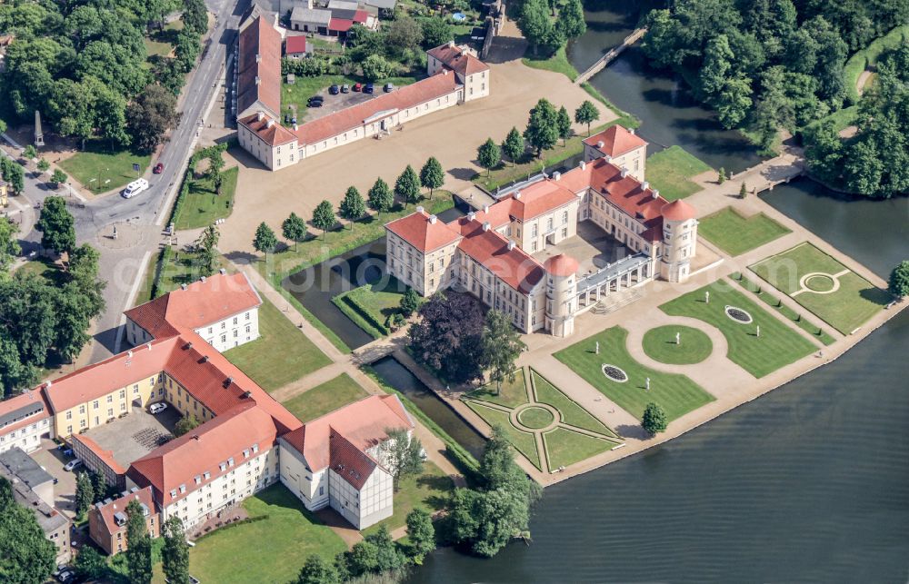
<svg viewBox="0 0 909 584">
<path fill-rule="evenodd" d="M 265 297 L 259 307 L 259 335 L 225 351 L 225 357 L 265 391 L 275 391 L 331 362 Z"/>
</svg>

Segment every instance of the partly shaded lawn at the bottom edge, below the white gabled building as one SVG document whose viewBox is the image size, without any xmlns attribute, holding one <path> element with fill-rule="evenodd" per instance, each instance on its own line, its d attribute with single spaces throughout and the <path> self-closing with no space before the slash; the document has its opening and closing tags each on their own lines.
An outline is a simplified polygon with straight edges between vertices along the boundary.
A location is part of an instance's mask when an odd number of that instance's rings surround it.
<svg viewBox="0 0 909 584">
<path fill-rule="evenodd" d="M 245 500 L 250 517 L 268 519 L 215 532 L 190 548 L 190 572 L 202 582 L 287 582 L 295 580 L 311 554 L 331 562 L 344 540 L 305 510 L 284 485 Z"/>
</svg>

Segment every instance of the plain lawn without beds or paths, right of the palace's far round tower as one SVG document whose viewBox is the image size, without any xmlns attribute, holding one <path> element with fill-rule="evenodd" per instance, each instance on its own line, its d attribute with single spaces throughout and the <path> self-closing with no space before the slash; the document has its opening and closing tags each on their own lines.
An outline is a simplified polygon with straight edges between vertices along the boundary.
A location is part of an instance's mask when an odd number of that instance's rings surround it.
<svg viewBox="0 0 909 584">
<path fill-rule="evenodd" d="M 724 252 L 735 256 L 792 232 L 764 213 L 744 217 L 732 207 L 726 207 L 704 217 L 697 226 L 697 233 Z"/>
</svg>

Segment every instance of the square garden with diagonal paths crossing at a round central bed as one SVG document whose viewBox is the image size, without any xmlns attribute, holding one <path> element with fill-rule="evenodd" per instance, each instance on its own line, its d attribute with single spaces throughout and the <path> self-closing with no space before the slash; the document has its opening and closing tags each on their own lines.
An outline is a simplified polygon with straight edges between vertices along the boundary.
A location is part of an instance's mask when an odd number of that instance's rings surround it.
<svg viewBox="0 0 909 584">
<path fill-rule="evenodd" d="M 554 472 L 612 450 L 621 437 L 533 369 L 517 371 L 464 397 L 490 426 L 503 429 L 515 450 L 539 470 Z"/>
</svg>

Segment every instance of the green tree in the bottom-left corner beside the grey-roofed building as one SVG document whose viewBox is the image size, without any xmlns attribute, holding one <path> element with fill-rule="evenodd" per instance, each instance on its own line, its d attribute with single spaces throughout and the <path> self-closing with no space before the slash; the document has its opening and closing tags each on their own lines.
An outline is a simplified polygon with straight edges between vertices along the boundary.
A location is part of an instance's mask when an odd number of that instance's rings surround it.
<svg viewBox="0 0 909 584">
<path fill-rule="evenodd" d="M 13 486 L 0 477 L 0 576 L 6 582 L 41 584 L 54 570 L 56 547 L 41 530 L 35 513 L 13 498 Z"/>
</svg>

